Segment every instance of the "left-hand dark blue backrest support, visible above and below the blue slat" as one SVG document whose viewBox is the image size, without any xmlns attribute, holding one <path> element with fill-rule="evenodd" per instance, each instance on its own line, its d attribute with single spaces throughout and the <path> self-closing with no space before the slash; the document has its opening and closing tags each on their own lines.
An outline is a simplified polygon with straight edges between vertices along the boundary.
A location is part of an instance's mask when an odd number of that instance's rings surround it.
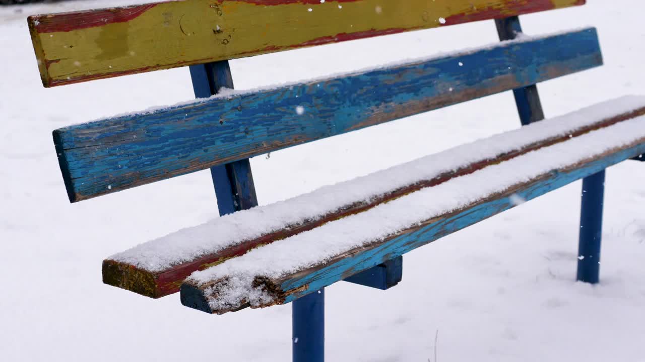
<svg viewBox="0 0 645 362">
<path fill-rule="evenodd" d="M 221 88 L 233 89 L 228 61 L 190 66 L 195 97 L 208 98 Z M 257 206 L 255 184 L 248 158 L 210 168 L 220 215 Z"/>
</svg>

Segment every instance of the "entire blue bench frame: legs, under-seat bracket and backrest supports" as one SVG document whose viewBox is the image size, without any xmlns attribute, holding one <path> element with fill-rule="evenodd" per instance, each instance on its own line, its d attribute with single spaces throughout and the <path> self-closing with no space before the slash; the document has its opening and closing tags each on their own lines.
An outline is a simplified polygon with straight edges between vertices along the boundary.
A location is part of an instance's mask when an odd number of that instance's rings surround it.
<svg viewBox="0 0 645 362">
<path fill-rule="evenodd" d="M 496 19 L 500 41 L 515 39 L 522 33 L 518 16 Z M 233 89 L 228 61 L 190 66 L 195 97 L 210 97 L 222 87 Z M 513 90 L 522 126 L 544 119 L 544 111 L 535 84 Z M 211 168 L 217 206 L 221 215 L 257 206 L 250 162 L 247 159 Z M 581 232 L 577 280 L 598 283 L 600 240 L 604 198 L 604 171 L 582 182 Z M 402 257 L 399 256 L 346 281 L 389 289 L 401 281 Z M 292 352 L 294 362 L 324 361 L 324 288 L 292 302 Z"/>
</svg>

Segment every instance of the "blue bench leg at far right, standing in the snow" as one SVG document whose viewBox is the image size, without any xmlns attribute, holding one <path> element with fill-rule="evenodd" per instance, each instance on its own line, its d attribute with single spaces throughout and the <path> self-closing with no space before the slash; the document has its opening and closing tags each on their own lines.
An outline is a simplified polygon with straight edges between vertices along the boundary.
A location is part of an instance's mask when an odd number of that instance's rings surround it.
<svg viewBox="0 0 645 362">
<path fill-rule="evenodd" d="M 604 179 L 602 170 L 582 180 L 577 279 L 591 284 L 598 283 L 600 273 Z"/>
</svg>

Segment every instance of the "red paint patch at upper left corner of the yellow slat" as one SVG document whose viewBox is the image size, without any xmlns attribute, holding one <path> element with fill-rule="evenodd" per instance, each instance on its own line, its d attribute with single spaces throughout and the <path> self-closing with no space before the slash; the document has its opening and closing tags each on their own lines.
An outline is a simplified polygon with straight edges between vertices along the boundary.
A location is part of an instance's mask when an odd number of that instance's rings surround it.
<svg viewBox="0 0 645 362">
<path fill-rule="evenodd" d="M 159 4 L 161 3 L 63 14 L 33 15 L 29 17 L 29 21 L 34 24 L 37 33 L 70 32 L 112 23 L 125 23 Z"/>
</svg>

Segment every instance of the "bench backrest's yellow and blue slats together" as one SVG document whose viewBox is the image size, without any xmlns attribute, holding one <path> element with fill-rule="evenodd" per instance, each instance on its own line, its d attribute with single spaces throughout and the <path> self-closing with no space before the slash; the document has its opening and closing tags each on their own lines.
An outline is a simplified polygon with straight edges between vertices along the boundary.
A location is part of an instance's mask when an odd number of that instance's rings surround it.
<svg viewBox="0 0 645 362">
<path fill-rule="evenodd" d="M 583 4 L 187 0 L 29 24 L 43 84 L 56 86 Z M 600 64 L 595 30 L 578 30 L 79 124 L 55 130 L 54 142 L 76 202 Z"/>
</svg>

